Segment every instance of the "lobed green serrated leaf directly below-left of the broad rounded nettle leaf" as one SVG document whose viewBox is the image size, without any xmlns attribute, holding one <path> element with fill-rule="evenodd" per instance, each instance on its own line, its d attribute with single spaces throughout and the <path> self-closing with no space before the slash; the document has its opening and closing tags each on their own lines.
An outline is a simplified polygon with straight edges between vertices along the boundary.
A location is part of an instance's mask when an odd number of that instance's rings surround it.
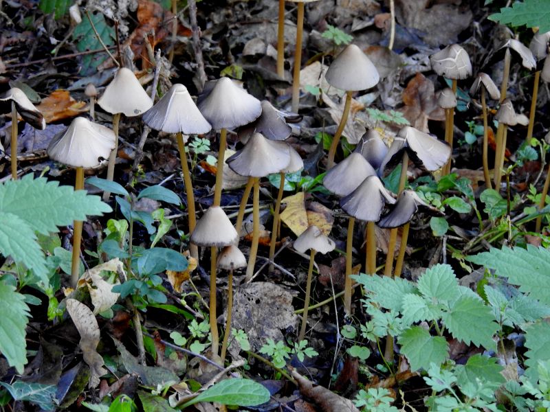
<svg viewBox="0 0 550 412">
<path fill-rule="evenodd" d="M 413 326 L 403 332 L 398 342 L 412 371 L 427 370 L 430 363 L 441 365 L 448 357 L 447 341 L 441 336 L 431 336 L 428 330 L 420 326 Z"/>
</svg>

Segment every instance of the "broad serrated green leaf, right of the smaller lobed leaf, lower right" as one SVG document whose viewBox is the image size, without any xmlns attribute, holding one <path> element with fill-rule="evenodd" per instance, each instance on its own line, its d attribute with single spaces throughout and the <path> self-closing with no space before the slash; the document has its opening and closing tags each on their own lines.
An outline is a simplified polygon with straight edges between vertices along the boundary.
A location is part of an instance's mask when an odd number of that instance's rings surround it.
<svg viewBox="0 0 550 412">
<path fill-rule="evenodd" d="M 481 299 L 461 296 L 456 299 L 450 311 L 443 314 L 443 323 L 454 338 L 467 345 L 483 345 L 494 349 L 493 335 L 498 330 L 491 309 Z"/>
</svg>

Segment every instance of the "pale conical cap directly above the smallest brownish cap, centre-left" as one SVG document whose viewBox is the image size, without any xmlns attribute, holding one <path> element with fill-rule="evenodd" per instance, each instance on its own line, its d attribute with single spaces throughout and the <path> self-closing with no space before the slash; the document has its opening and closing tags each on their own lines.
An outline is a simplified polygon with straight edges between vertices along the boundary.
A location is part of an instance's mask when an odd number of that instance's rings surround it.
<svg viewBox="0 0 550 412">
<path fill-rule="evenodd" d="M 223 247 L 236 239 L 236 230 L 225 211 L 219 206 L 210 206 L 197 222 L 190 241 L 197 246 Z"/>
</svg>

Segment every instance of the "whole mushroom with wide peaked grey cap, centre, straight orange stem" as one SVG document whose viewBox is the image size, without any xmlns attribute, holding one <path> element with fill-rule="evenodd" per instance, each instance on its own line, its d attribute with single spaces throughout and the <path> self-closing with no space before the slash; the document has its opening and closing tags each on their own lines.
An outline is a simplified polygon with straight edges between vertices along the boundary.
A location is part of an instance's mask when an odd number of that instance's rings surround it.
<svg viewBox="0 0 550 412">
<path fill-rule="evenodd" d="M 260 239 L 260 178 L 280 172 L 287 167 L 289 161 L 289 146 L 281 141 L 266 139 L 261 133 L 254 133 L 245 147 L 227 160 L 233 172 L 241 176 L 249 176 L 248 180 L 252 181 L 254 186 L 252 245 L 245 277 L 247 282 L 254 275 Z M 240 233 L 240 228 L 237 230 Z"/>
</svg>

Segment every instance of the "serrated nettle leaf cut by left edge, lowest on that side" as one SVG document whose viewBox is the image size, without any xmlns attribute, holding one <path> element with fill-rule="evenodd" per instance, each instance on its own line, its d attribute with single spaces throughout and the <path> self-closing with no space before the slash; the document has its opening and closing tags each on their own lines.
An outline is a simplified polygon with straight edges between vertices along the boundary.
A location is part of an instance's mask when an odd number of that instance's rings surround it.
<svg viewBox="0 0 550 412">
<path fill-rule="evenodd" d="M 27 363 L 25 328 L 29 312 L 25 297 L 14 286 L 0 282 L 0 352 L 19 374 L 23 374 L 23 365 Z"/>
</svg>

